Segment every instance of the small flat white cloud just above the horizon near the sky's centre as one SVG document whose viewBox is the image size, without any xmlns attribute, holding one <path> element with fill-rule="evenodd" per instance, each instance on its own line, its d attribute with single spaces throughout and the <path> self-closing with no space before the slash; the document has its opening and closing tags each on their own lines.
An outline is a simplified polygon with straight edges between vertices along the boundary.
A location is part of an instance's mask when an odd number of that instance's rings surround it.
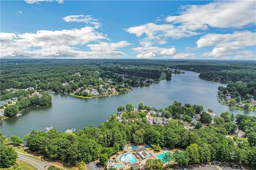
<svg viewBox="0 0 256 170">
<path fill-rule="evenodd" d="M 139 53 L 137 58 L 152 58 L 152 57 L 170 57 L 175 54 L 176 49 L 171 48 L 161 48 L 161 47 L 137 47 L 132 48 L 135 52 Z"/>
</svg>

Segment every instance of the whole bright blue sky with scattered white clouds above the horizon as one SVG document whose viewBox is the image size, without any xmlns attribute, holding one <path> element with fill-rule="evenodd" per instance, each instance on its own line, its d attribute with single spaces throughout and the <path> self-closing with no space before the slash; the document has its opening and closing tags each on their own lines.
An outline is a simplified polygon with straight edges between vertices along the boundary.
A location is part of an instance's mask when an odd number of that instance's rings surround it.
<svg viewBox="0 0 256 170">
<path fill-rule="evenodd" d="M 1 57 L 256 59 L 256 1 L 1 3 Z"/>
</svg>

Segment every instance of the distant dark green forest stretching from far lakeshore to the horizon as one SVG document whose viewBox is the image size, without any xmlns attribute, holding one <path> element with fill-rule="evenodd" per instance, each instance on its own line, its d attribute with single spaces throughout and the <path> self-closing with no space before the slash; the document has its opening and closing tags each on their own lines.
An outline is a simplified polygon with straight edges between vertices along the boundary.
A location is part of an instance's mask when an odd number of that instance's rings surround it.
<svg viewBox="0 0 256 170">
<path fill-rule="evenodd" d="M 150 84 L 149 79 L 158 80 L 161 73 L 169 73 L 168 69 L 195 71 L 200 73 L 199 78 L 211 81 L 256 79 L 254 61 L 4 59 L 1 62 L 1 90 L 34 87 L 70 92 L 78 87 L 99 86 L 109 79 L 113 86 L 145 86 Z"/>
</svg>

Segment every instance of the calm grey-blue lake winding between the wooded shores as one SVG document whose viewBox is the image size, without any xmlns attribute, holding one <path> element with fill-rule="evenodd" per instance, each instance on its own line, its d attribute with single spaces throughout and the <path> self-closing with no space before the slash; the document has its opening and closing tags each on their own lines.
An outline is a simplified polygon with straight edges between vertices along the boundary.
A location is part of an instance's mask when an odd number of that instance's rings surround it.
<svg viewBox="0 0 256 170">
<path fill-rule="evenodd" d="M 98 126 L 116 113 L 118 106 L 139 103 L 156 108 L 164 108 L 180 101 L 182 104 L 196 104 L 204 109 L 212 108 L 214 113 L 225 111 L 236 114 L 256 115 L 255 112 L 239 111 L 221 105 L 217 101 L 218 82 L 198 78 L 198 73 L 186 71 L 182 75 L 172 75 L 171 81 L 161 81 L 149 87 L 134 88 L 133 91 L 118 96 L 83 99 L 63 94 L 51 94 L 52 105 L 30 107 L 20 117 L 11 117 L 1 122 L 1 131 L 7 137 L 23 135 L 31 130 L 44 130 L 53 126 L 58 131 L 69 128 L 83 129 L 85 126 Z"/>
</svg>

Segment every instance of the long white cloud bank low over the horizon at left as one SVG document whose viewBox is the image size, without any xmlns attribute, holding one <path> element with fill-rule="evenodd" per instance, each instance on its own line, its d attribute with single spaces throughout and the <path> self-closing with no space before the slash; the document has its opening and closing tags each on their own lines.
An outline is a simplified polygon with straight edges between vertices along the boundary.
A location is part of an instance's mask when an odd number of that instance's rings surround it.
<svg viewBox="0 0 256 170">
<path fill-rule="evenodd" d="M 125 54 L 117 49 L 131 45 L 127 41 L 89 44 L 107 39 L 106 35 L 95 31 L 93 27 L 60 31 L 40 30 L 23 34 L 1 32 L 0 37 L 2 57 L 121 57 Z M 90 50 L 78 48 L 84 45 Z"/>
</svg>

